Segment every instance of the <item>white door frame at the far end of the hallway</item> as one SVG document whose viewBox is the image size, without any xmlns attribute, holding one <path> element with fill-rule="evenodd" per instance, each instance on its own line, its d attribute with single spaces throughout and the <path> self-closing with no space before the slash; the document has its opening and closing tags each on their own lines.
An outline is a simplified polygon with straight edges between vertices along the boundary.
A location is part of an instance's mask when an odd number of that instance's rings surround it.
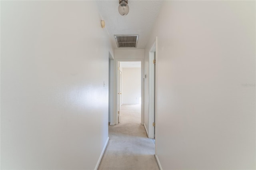
<svg viewBox="0 0 256 170">
<path fill-rule="evenodd" d="M 118 62 L 122 61 L 140 61 L 141 63 L 141 76 L 140 76 L 140 82 L 141 82 L 141 124 L 144 124 L 144 81 L 143 81 L 143 73 L 144 73 L 144 59 L 115 59 L 115 69 L 116 69 L 116 86 L 115 86 L 115 117 L 116 117 L 116 125 L 118 124 Z"/>
</svg>

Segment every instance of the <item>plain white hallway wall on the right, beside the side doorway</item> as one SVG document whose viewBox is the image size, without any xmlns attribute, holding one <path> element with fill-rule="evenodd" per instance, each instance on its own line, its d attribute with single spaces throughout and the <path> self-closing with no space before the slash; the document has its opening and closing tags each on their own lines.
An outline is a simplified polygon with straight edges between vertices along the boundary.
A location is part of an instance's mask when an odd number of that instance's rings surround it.
<svg viewBox="0 0 256 170">
<path fill-rule="evenodd" d="M 145 49 L 162 169 L 256 168 L 255 30 L 255 1 L 164 1 Z"/>
</svg>

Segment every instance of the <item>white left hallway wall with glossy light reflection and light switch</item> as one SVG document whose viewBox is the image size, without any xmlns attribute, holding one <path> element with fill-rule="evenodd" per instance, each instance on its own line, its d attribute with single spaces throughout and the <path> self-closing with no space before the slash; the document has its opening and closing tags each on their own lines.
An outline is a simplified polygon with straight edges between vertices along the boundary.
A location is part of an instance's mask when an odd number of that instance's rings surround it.
<svg viewBox="0 0 256 170">
<path fill-rule="evenodd" d="M 1 1 L 2 169 L 96 167 L 113 53 L 100 19 L 92 1 Z"/>
</svg>

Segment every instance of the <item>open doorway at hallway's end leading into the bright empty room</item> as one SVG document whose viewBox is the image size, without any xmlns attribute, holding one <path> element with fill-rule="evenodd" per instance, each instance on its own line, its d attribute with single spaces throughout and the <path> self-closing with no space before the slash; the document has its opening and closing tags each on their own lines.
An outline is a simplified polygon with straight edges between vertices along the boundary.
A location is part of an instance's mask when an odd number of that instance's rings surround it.
<svg viewBox="0 0 256 170">
<path fill-rule="evenodd" d="M 141 61 L 118 61 L 118 96 L 117 110 L 118 123 L 122 121 L 122 111 L 132 109 L 139 111 L 136 116 L 138 122 L 141 122 L 141 103 L 142 103 L 142 67 Z M 125 111 L 123 112 L 125 113 Z"/>
</svg>

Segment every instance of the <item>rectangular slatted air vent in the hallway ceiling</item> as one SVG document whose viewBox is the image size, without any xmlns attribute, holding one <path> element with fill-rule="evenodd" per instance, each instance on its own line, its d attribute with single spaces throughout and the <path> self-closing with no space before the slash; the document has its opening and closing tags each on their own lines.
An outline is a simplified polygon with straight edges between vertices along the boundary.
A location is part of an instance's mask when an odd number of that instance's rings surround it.
<svg viewBox="0 0 256 170">
<path fill-rule="evenodd" d="M 117 47 L 137 47 L 138 35 L 114 35 Z"/>
</svg>

